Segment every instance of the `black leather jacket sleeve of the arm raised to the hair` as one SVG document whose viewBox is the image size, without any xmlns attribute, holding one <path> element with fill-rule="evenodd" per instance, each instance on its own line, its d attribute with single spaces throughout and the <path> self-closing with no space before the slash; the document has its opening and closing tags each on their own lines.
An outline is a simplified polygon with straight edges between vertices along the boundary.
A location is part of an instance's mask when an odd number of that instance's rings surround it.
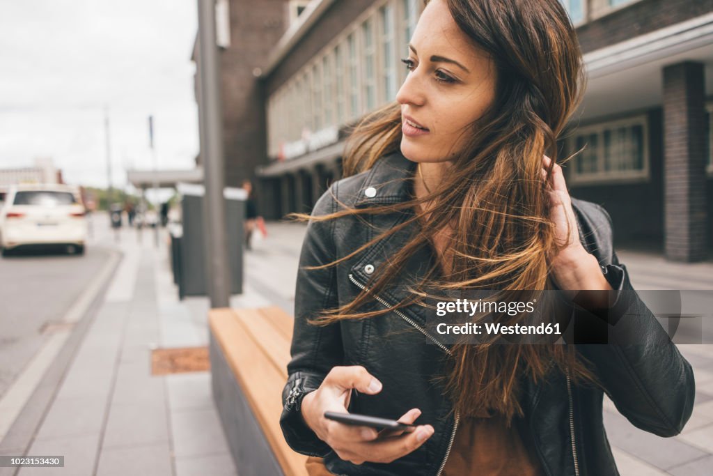
<svg viewBox="0 0 713 476">
<path fill-rule="evenodd" d="M 611 230 L 610 216 L 599 209 Z M 677 435 L 693 410 L 691 365 L 636 293 L 616 253 L 607 258 L 602 270 L 616 291 L 605 313 L 608 344 L 577 345 L 578 351 L 595 365 L 607 395 L 632 425 L 662 437 Z"/>
</svg>

